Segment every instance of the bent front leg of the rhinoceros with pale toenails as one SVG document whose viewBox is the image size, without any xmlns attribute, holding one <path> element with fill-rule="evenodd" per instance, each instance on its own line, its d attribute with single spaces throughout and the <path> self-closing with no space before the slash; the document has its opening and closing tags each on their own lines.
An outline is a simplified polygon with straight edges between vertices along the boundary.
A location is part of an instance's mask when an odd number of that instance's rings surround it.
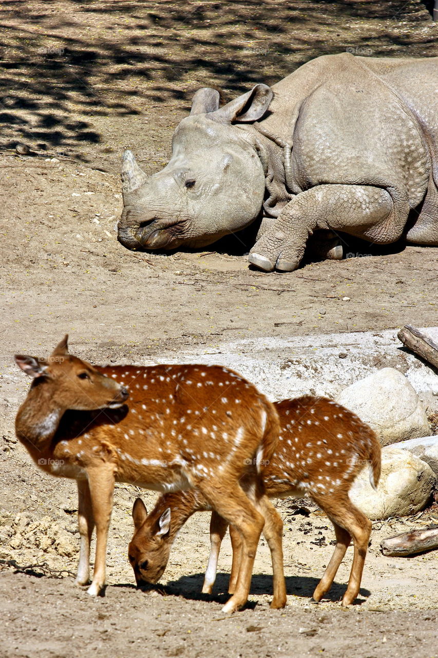
<svg viewBox="0 0 438 658">
<path fill-rule="evenodd" d="M 407 218 L 408 207 L 402 209 Z M 399 215 L 400 213 L 397 213 Z M 303 258 L 308 236 L 316 229 L 344 231 L 365 240 L 393 242 L 404 221 L 395 220 L 391 195 L 362 185 L 320 185 L 293 197 L 276 219 L 262 222 L 249 262 L 271 272 L 295 270 Z M 339 257 L 339 249 L 328 257 Z"/>
</svg>

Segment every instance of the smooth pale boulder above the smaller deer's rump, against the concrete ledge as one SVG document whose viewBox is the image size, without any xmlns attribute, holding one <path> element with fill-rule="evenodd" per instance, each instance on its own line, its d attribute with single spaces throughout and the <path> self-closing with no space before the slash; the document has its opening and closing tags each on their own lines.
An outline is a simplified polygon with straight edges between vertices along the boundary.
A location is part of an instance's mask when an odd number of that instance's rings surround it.
<svg viewBox="0 0 438 658">
<path fill-rule="evenodd" d="M 337 401 L 376 432 L 381 445 L 430 434 L 426 411 L 414 388 L 395 368 L 383 368 L 347 386 Z"/>
</svg>

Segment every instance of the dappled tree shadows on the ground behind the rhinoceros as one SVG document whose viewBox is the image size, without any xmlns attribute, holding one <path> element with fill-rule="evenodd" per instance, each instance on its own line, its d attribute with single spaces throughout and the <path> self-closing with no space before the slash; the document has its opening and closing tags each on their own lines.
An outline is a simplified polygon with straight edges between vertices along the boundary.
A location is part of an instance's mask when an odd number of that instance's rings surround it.
<svg viewBox="0 0 438 658">
<path fill-rule="evenodd" d="M 84 161 L 105 149 L 99 119 L 123 120 L 195 89 L 225 97 L 272 84 L 327 53 L 433 55 L 424 4 L 299 0 L 5 0 L 0 8 L 3 145 Z"/>
</svg>

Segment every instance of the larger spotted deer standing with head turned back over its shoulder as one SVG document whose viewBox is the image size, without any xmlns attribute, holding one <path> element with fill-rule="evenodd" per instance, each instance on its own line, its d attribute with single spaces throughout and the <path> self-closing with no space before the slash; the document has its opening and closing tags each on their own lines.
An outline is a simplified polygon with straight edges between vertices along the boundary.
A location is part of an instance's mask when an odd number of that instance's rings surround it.
<svg viewBox="0 0 438 658">
<path fill-rule="evenodd" d="M 193 488 L 241 534 L 235 593 L 224 611 L 247 601 L 263 526 L 275 570 L 272 606 L 283 607 L 282 522 L 258 475 L 280 431 L 273 405 L 227 368 L 93 367 L 68 354 L 67 339 L 47 360 L 16 355 L 18 366 L 34 378 L 16 417 L 16 435 L 40 468 L 78 482 L 76 582 L 88 582 L 95 526 L 88 594 L 99 594 L 105 584 L 114 482 L 162 492 Z M 135 577 L 144 577 L 141 564 Z"/>
</svg>

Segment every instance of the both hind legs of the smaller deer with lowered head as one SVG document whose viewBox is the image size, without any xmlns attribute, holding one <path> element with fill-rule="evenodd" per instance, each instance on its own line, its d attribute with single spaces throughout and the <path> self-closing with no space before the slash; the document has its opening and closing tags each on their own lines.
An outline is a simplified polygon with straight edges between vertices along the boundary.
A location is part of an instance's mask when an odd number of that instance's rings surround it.
<svg viewBox="0 0 438 658">
<path fill-rule="evenodd" d="M 333 583 L 333 579 L 335 578 L 337 569 L 339 568 L 345 552 L 351 543 L 351 539 L 353 538 L 353 565 L 351 567 L 347 591 L 342 599 L 342 605 L 350 605 L 359 593 L 372 524 L 370 520 L 367 519 L 367 517 L 353 505 L 353 503 L 351 503 L 348 495 L 345 495 L 345 497 L 342 497 L 341 499 L 337 498 L 335 503 L 333 501 L 333 506 L 328 504 L 329 500 L 327 497 L 324 498 L 324 501 L 318 500 L 317 502 L 320 507 L 326 511 L 329 519 L 333 523 L 337 544 L 326 572 L 314 591 L 313 599 L 315 601 L 320 601 L 322 596 L 328 592 Z"/>
</svg>

